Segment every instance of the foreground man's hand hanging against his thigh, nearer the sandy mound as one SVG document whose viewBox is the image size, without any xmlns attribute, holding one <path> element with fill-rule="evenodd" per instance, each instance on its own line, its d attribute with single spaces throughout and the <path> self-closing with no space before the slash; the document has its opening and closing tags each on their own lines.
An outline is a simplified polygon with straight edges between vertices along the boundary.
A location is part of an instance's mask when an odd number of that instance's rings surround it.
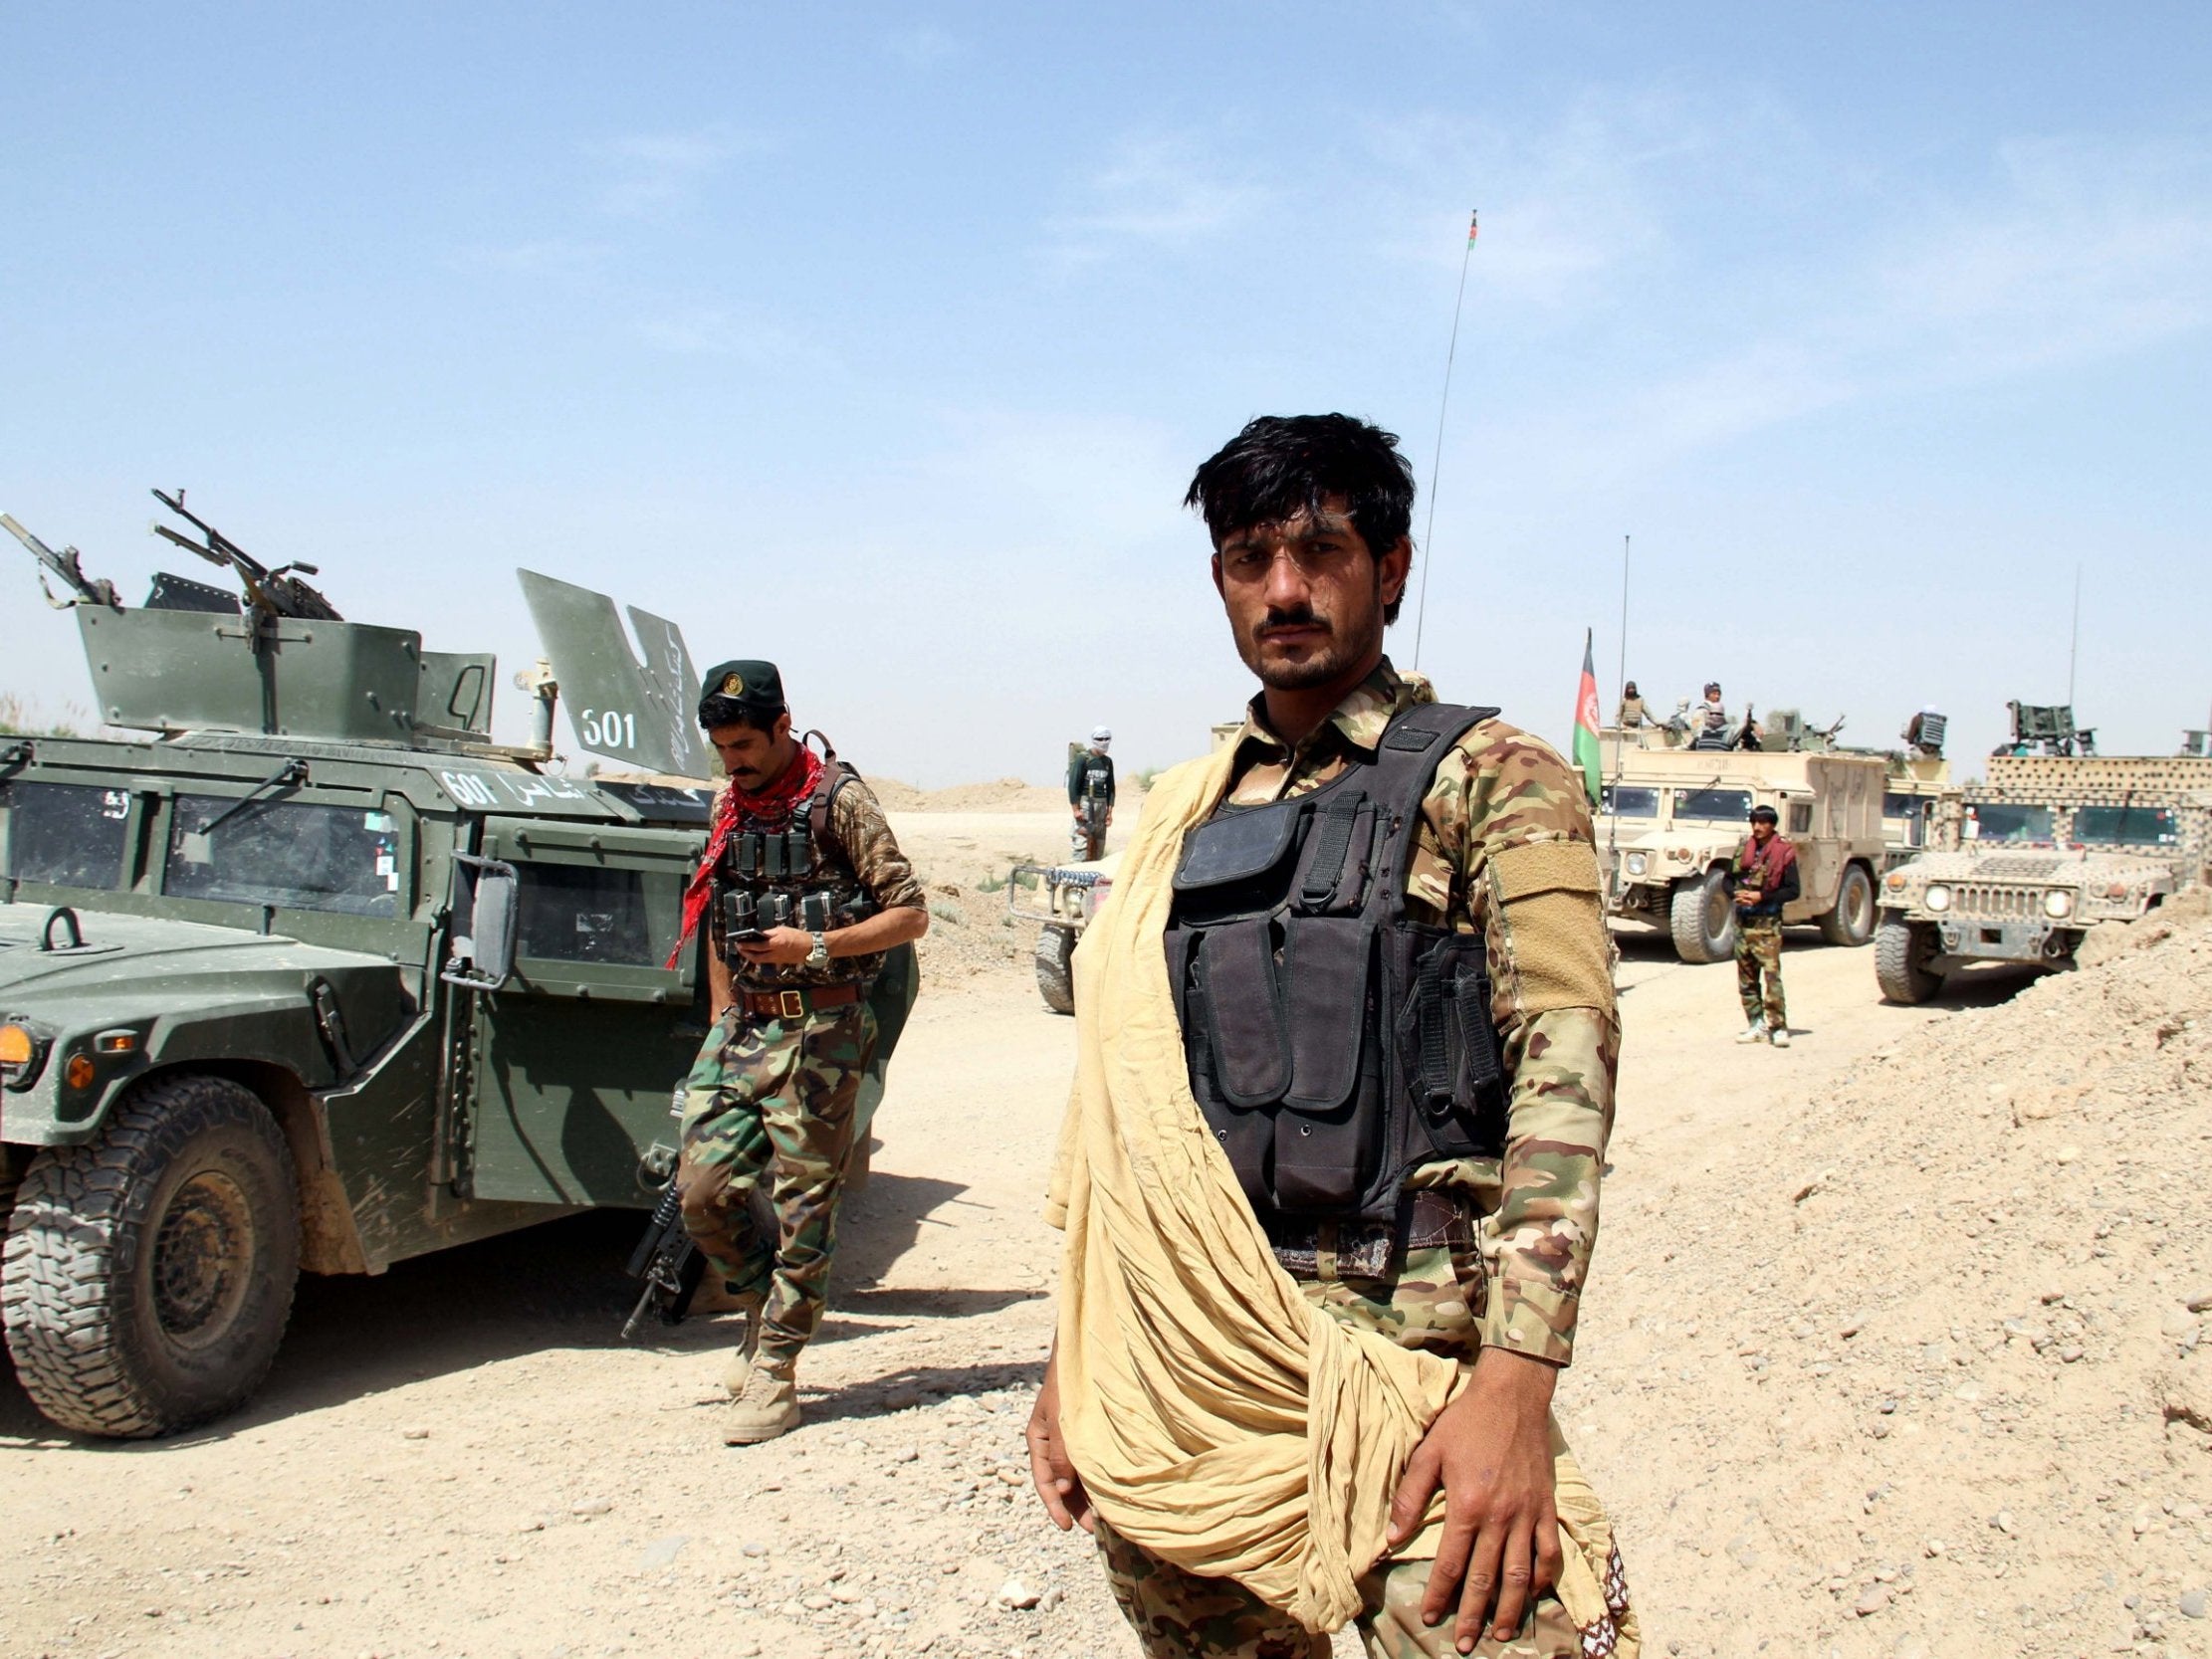
<svg viewBox="0 0 2212 1659">
<path fill-rule="evenodd" d="M 1420 1531 L 1436 1489 L 1444 1489 L 1444 1537 L 1420 1617 L 1442 1624 L 1458 1601 L 1460 1652 L 1473 1652 L 1484 1619 L 1498 1641 L 1511 1641 L 1537 1597 L 1559 1582 L 1551 1484 L 1555 1380 L 1544 1360 L 1484 1349 L 1467 1389 L 1413 1449 L 1391 1498 L 1389 1540 L 1398 1548 Z"/>
</svg>

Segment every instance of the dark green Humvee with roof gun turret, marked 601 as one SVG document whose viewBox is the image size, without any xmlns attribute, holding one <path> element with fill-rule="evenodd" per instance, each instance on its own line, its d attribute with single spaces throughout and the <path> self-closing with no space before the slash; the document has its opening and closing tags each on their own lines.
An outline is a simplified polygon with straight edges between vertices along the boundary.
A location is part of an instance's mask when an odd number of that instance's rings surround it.
<svg viewBox="0 0 2212 1659">
<path fill-rule="evenodd" d="M 500 745 L 489 655 L 232 568 L 243 606 L 77 588 L 146 737 L 0 737 L 0 1310 L 80 1433 L 243 1402 L 301 1270 L 650 1208 L 703 1031 L 697 953 L 664 962 L 708 790 L 560 776 L 542 664 Z M 586 745 L 701 776 L 675 628 L 633 611 L 639 661 L 608 599 L 522 582 Z"/>
</svg>

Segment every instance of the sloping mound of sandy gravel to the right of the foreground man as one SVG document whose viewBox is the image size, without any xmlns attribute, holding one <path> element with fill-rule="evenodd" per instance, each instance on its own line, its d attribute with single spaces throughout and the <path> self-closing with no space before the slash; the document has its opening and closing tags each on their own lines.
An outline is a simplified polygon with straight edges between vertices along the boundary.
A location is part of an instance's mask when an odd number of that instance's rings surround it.
<svg viewBox="0 0 2212 1659">
<path fill-rule="evenodd" d="M 1655 1652 L 2208 1650 L 2212 927 L 2104 949 L 1637 1172 L 1566 1416 Z"/>
</svg>

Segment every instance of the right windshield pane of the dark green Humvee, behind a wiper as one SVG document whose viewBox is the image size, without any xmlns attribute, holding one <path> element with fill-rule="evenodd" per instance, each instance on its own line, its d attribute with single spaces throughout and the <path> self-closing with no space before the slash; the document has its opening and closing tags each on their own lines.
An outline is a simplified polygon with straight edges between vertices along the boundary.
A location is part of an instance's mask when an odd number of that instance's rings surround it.
<svg viewBox="0 0 2212 1659">
<path fill-rule="evenodd" d="M 398 827 L 389 812 L 361 807 L 239 805 L 237 796 L 179 794 L 161 891 L 232 905 L 398 916 Z"/>
</svg>

